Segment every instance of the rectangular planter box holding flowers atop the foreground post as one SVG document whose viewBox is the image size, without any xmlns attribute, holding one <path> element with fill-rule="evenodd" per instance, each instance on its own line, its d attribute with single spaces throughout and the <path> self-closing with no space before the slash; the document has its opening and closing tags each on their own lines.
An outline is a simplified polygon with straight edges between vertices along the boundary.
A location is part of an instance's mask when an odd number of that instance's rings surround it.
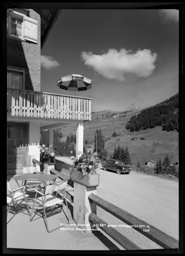
<svg viewBox="0 0 185 256">
<path fill-rule="evenodd" d="M 74 169 L 72 169 L 70 178 L 73 179 L 74 181 L 78 181 L 79 183 L 81 183 L 87 187 L 99 186 L 99 184 L 100 184 L 100 175 L 99 174 L 83 175 L 82 172 L 78 172 L 78 171 L 75 171 Z"/>
</svg>

